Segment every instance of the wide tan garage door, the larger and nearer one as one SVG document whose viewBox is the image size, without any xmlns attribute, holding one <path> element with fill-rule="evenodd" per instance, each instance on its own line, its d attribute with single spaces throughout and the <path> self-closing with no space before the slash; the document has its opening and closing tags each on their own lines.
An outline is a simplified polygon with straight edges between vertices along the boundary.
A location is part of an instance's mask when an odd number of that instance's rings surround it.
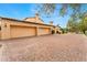
<svg viewBox="0 0 87 65">
<path fill-rule="evenodd" d="M 11 26 L 11 37 L 34 36 L 36 32 L 35 28 L 29 26 Z"/>
</svg>

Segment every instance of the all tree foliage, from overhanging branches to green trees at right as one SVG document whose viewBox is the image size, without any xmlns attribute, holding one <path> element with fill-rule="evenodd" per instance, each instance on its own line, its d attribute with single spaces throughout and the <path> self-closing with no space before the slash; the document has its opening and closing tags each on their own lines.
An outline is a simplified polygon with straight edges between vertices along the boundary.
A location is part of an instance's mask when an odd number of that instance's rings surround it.
<svg viewBox="0 0 87 65">
<path fill-rule="evenodd" d="M 68 20 L 68 23 L 67 23 L 68 30 L 70 32 L 83 31 L 85 33 L 85 31 L 87 30 L 87 14 L 85 15 L 85 13 L 87 13 L 87 11 L 81 11 L 83 4 L 63 3 L 61 6 L 62 8 L 59 9 L 59 14 L 62 17 L 64 17 L 68 12 L 68 9 L 73 11 L 70 14 L 70 19 Z M 45 13 L 45 15 L 51 17 L 56 10 L 56 7 L 57 4 L 55 3 L 43 3 L 43 4 L 40 4 L 39 12 L 41 12 L 41 14 Z M 78 22 L 78 20 L 80 21 Z"/>
</svg>

